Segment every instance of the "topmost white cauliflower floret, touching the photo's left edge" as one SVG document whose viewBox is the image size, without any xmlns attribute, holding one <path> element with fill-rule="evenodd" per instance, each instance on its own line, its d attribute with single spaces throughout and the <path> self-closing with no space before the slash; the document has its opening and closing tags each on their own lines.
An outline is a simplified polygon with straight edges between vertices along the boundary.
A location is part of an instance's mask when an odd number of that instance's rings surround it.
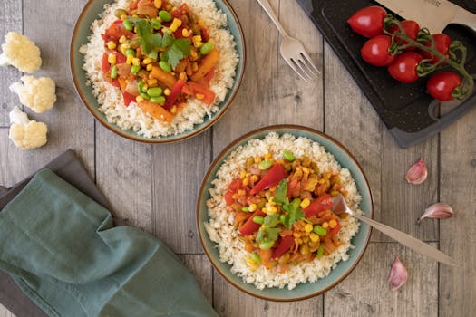
<svg viewBox="0 0 476 317">
<path fill-rule="evenodd" d="M 40 49 L 27 36 L 16 32 L 5 35 L 0 66 L 13 65 L 21 72 L 35 72 L 42 65 Z"/>
</svg>

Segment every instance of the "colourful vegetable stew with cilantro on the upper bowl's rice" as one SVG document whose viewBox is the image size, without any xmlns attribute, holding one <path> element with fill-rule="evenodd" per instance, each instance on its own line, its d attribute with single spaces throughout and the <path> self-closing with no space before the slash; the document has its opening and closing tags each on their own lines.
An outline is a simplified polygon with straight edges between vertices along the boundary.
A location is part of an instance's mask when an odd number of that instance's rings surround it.
<svg viewBox="0 0 476 317">
<path fill-rule="evenodd" d="M 122 91 L 124 104 L 170 123 L 188 98 L 207 104 L 219 51 L 209 30 L 187 4 L 134 0 L 118 9 L 117 20 L 102 34 L 102 73 Z"/>
</svg>

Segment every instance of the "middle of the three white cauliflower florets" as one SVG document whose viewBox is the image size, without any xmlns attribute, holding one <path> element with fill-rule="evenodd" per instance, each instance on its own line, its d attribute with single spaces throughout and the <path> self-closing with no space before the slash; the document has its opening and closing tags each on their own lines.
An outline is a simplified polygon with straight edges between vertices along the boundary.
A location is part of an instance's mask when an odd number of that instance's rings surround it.
<svg viewBox="0 0 476 317">
<path fill-rule="evenodd" d="M 15 92 L 20 97 L 22 104 L 36 113 L 42 113 L 53 108 L 54 102 L 56 102 L 56 86 L 51 78 L 23 76 L 21 81 L 24 83 L 14 82 L 10 86 L 10 91 Z"/>
</svg>

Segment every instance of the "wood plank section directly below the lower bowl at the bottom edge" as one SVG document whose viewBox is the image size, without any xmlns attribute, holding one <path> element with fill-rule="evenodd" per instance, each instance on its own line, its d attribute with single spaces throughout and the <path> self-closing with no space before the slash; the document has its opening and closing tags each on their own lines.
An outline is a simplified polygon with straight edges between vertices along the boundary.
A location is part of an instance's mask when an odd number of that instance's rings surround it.
<svg viewBox="0 0 476 317">
<path fill-rule="evenodd" d="M 319 316 L 323 311 L 322 295 L 291 303 L 277 303 L 258 299 L 238 291 L 216 271 L 214 280 L 214 306 L 220 316 Z"/>
</svg>

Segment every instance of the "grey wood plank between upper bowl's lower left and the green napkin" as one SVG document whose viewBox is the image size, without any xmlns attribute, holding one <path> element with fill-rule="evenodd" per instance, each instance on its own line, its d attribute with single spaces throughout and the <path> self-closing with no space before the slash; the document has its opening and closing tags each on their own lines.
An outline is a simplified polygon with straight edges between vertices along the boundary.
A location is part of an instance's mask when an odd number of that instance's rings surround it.
<svg viewBox="0 0 476 317">
<path fill-rule="evenodd" d="M 99 123 L 96 130 L 96 183 L 113 215 L 152 233 L 151 144 L 122 138 Z"/>
</svg>

